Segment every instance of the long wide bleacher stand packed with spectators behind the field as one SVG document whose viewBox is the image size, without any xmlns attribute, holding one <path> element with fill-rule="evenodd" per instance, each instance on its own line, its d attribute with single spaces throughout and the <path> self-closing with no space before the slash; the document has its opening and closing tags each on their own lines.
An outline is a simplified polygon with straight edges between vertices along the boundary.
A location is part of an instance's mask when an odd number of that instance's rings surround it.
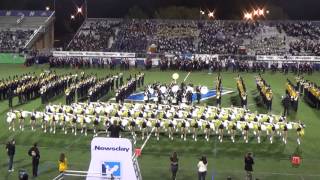
<svg viewBox="0 0 320 180">
<path fill-rule="evenodd" d="M 89 18 L 67 49 L 146 52 L 155 45 L 158 53 L 319 55 L 319 37 L 319 24 L 310 21 L 252 23 Z M 96 41 L 97 38 L 100 41 Z"/>
</svg>

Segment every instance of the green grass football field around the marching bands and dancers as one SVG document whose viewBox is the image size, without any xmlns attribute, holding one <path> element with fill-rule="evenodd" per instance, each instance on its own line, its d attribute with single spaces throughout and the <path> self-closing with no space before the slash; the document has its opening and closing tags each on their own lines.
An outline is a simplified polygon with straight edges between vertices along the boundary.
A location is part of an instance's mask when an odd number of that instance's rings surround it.
<svg viewBox="0 0 320 180">
<path fill-rule="evenodd" d="M 2 64 L 0 66 L 0 78 L 6 78 L 16 74 L 23 74 L 27 72 L 36 72 L 40 74 L 42 70 L 47 69 L 47 65 L 24 67 L 17 64 Z M 94 73 L 102 77 L 108 73 L 117 73 L 120 70 L 109 69 L 52 69 L 57 73 L 81 72 Z M 129 74 L 138 73 L 142 69 L 124 71 L 124 79 Z M 151 71 L 143 71 L 145 75 L 145 84 L 153 83 L 154 81 L 170 82 L 173 71 L 161 72 L 158 69 Z M 183 81 L 187 72 L 178 72 L 180 78 L 178 82 Z M 229 107 L 231 104 L 239 105 L 238 93 L 236 89 L 235 77 L 238 73 L 222 72 L 222 84 L 224 88 L 232 88 L 235 93 L 222 96 L 222 106 Z M 259 103 L 259 93 L 256 90 L 255 73 L 240 73 L 246 84 L 248 93 L 248 105 L 251 111 L 258 111 L 259 113 L 266 113 L 264 108 Z M 217 73 L 208 74 L 207 71 L 192 72 L 187 83 L 194 85 L 206 85 L 210 89 L 215 86 L 215 79 Z M 293 82 L 294 74 L 289 73 L 283 75 L 282 73 L 271 73 L 267 71 L 262 77 L 268 84 L 271 85 L 274 93 L 272 113 L 281 114 L 283 111 L 281 105 L 281 96 L 285 93 L 285 82 L 289 78 Z M 313 75 L 304 75 L 305 79 L 320 84 L 320 73 L 316 72 Z M 108 97 L 112 97 L 112 94 Z M 105 98 L 106 99 L 106 98 Z M 53 100 L 53 103 L 64 103 L 65 97 L 60 96 Z M 209 99 L 202 104 L 214 104 L 214 99 Z M 17 103 L 17 98 L 14 104 Z M 30 101 L 29 103 L 19 105 L 16 109 L 26 110 L 41 110 L 44 106 L 40 103 L 40 98 Z M 64 135 L 60 130 L 57 134 L 44 134 L 40 129 L 36 132 L 31 132 L 29 121 L 26 121 L 26 130 L 24 132 L 16 131 L 14 133 L 8 131 L 8 124 L 6 123 L 6 113 L 8 111 L 8 101 L 0 102 L 0 179 L 15 180 L 18 178 L 18 170 L 26 169 L 31 173 L 31 158 L 27 155 L 28 149 L 34 142 L 38 142 L 41 152 L 41 159 L 39 165 L 39 180 L 49 180 L 58 175 L 58 159 L 61 152 L 66 153 L 69 163 L 69 169 L 86 171 L 90 163 L 90 142 L 92 136 L 71 134 Z M 169 156 L 173 151 L 178 153 L 179 157 L 179 171 L 177 174 L 178 180 L 194 180 L 197 179 L 197 162 L 201 155 L 206 155 L 208 158 L 208 179 L 227 179 L 231 176 L 233 180 L 242 180 L 245 177 L 243 156 L 246 152 L 253 152 L 255 158 L 254 177 L 259 180 L 318 180 L 320 179 L 319 163 L 320 163 L 320 111 L 311 108 L 307 105 L 303 98 L 299 100 L 298 112 L 290 111 L 289 120 L 301 120 L 306 124 L 305 136 L 302 139 L 300 151 L 302 153 L 302 164 L 298 168 L 294 168 L 290 163 L 290 156 L 296 151 L 296 133 L 290 133 L 287 145 L 284 145 L 278 138 L 274 144 L 264 138 L 262 143 L 258 144 L 256 139 L 251 138 L 249 144 L 245 144 L 243 139 L 237 137 L 236 143 L 232 143 L 229 139 L 225 139 L 223 143 L 218 142 L 218 137 L 211 137 L 210 142 L 206 142 L 204 138 L 199 137 L 198 142 L 189 140 L 182 141 L 178 135 L 173 141 L 168 137 L 162 136 L 157 142 L 152 136 L 145 148 L 142 156 L 138 159 L 142 171 L 143 179 L 145 180 L 164 180 L 170 179 L 169 171 Z M 89 133 L 90 134 L 90 133 Z M 6 142 L 11 139 L 16 139 L 16 156 L 14 159 L 13 173 L 7 171 L 7 155 L 5 151 Z M 137 142 L 137 147 L 142 145 L 142 141 Z M 32 178 L 31 178 L 32 179 Z M 81 178 L 67 178 L 67 179 L 81 179 Z"/>
</svg>

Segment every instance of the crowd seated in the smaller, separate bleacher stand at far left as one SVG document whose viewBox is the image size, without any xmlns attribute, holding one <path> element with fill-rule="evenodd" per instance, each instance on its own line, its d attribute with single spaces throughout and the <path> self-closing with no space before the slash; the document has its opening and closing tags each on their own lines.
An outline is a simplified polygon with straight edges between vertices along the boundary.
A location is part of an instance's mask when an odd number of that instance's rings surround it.
<svg viewBox="0 0 320 180">
<path fill-rule="evenodd" d="M 0 52 L 18 51 L 23 48 L 33 34 L 33 30 L 0 30 Z"/>
</svg>

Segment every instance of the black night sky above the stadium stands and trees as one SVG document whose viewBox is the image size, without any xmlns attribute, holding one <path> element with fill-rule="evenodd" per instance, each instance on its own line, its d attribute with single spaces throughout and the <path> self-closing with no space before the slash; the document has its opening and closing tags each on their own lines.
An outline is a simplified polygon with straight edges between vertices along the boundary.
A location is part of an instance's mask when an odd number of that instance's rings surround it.
<svg viewBox="0 0 320 180">
<path fill-rule="evenodd" d="M 217 19 L 239 19 L 243 10 L 252 7 L 266 7 L 280 19 L 319 20 L 320 0 L 87 0 L 89 17 L 124 17 L 133 6 L 141 8 L 149 17 L 154 12 L 168 6 L 185 6 L 215 9 Z M 54 0 L 0 0 L 0 9 L 44 10 L 53 9 Z M 70 15 L 84 0 L 56 0 L 56 35 L 73 33 L 83 17 L 71 22 Z"/>
</svg>

